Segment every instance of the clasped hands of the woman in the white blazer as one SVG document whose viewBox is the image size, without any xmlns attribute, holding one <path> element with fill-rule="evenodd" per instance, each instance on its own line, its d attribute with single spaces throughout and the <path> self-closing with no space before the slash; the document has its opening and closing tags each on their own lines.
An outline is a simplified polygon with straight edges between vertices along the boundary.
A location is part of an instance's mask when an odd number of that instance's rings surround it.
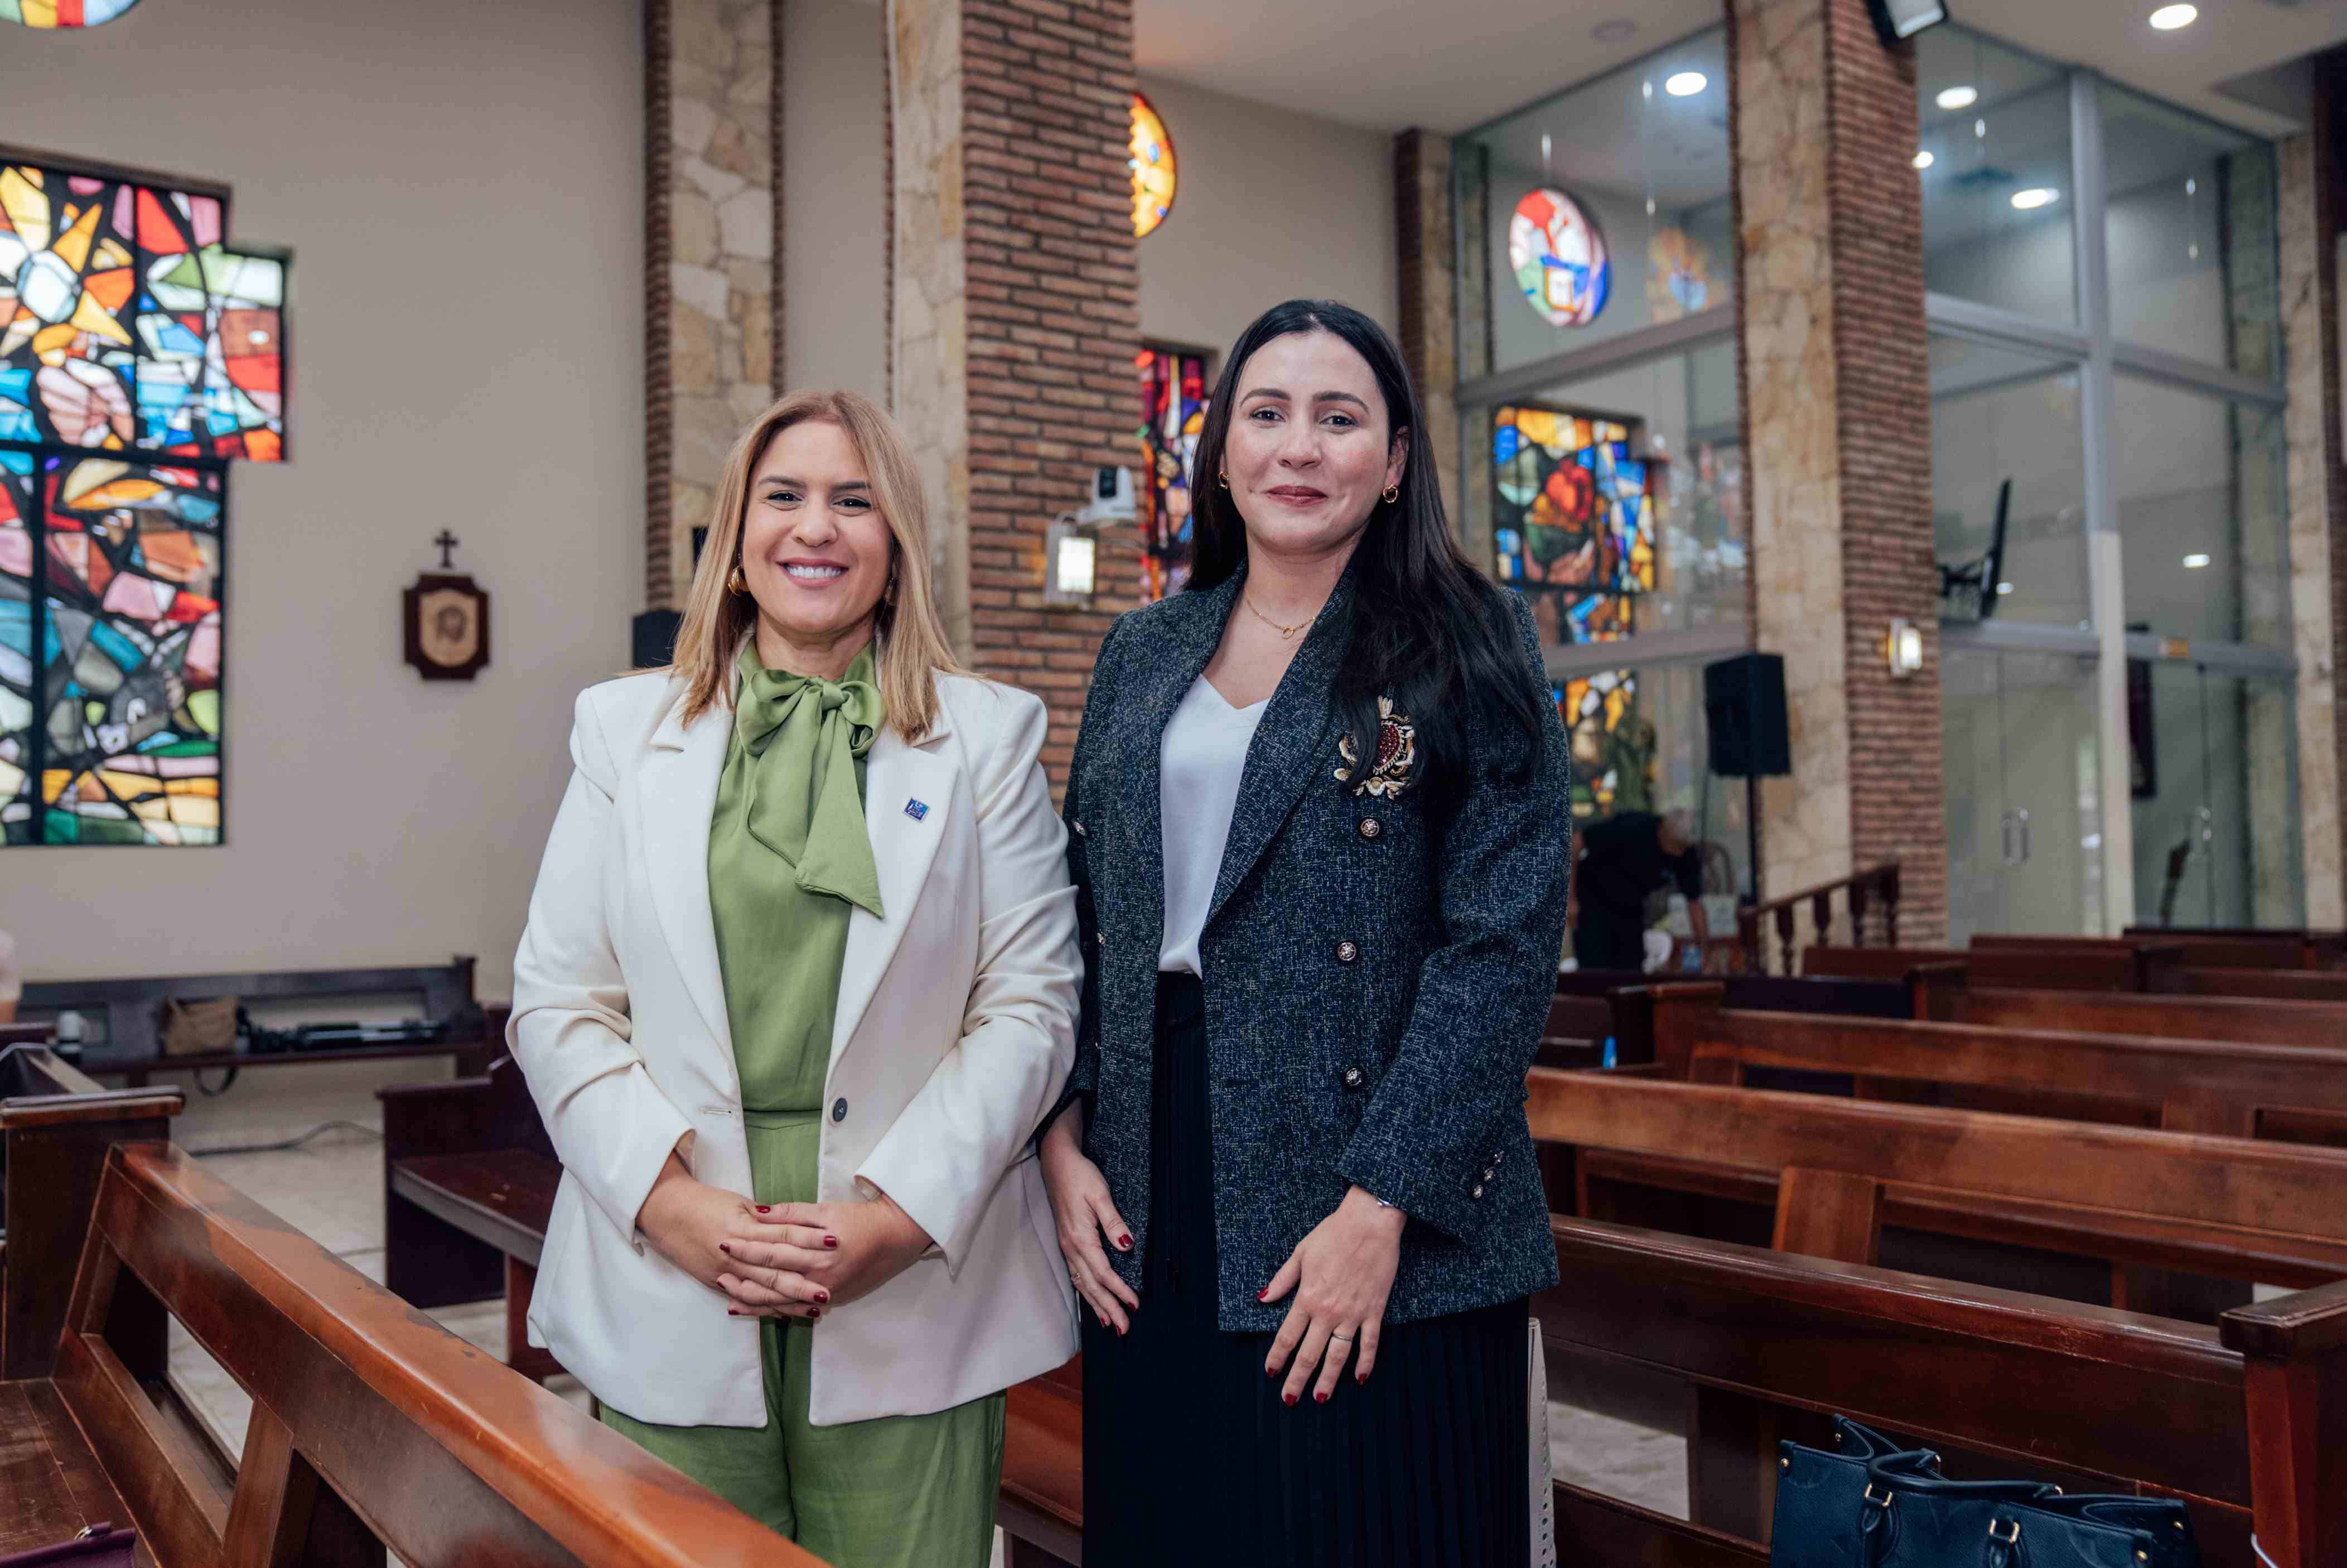
<svg viewBox="0 0 2347 1568">
<path fill-rule="evenodd" d="M 735 1317 L 800 1317 L 868 1296 L 929 1249 L 929 1232 L 880 1192 L 845 1204 L 753 1204 L 695 1181 L 669 1155 L 636 1230 L 728 1298 Z"/>
</svg>

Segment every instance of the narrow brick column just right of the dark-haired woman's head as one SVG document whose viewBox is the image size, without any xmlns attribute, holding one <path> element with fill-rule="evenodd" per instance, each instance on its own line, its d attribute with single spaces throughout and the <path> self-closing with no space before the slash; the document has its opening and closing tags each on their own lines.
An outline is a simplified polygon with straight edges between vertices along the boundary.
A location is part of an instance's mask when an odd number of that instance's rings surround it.
<svg viewBox="0 0 2347 1568">
<path fill-rule="evenodd" d="M 1450 312 L 1450 138 L 1408 129 L 1394 136 L 1394 277 L 1399 282 L 1401 359 L 1427 408 L 1434 479 L 1443 509 L 1476 566 L 1490 570 L 1490 542 L 1472 535 L 1460 512 L 1460 413 L 1450 390 L 1460 378 L 1457 319 Z M 1486 512 L 1488 516 L 1488 512 Z M 1488 523 L 1486 523 L 1488 530 Z"/>
</svg>

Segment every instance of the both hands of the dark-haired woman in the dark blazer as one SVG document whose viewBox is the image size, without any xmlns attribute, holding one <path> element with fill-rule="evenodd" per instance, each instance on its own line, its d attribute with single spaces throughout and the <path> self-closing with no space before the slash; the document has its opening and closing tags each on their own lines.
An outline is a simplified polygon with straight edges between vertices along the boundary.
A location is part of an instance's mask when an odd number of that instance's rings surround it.
<svg viewBox="0 0 2347 1568">
<path fill-rule="evenodd" d="M 1108 1197 L 1108 1178 L 1084 1157 L 1075 1129 L 1080 1110 L 1061 1115 L 1042 1138 L 1044 1188 L 1058 1221 L 1058 1246 L 1077 1293 L 1103 1329 L 1124 1333 L 1127 1314 L 1141 1310 L 1141 1298 L 1108 1263 L 1108 1246 L 1131 1251 L 1131 1225 Z M 1296 1244 L 1272 1282 L 1256 1300 L 1281 1300 L 1291 1291 L 1289 1314 L 1272 1336 L 1263 1376 L 1286 1383 L 1279 1397 L 1296 1404 L 1305 1390 L 1328 1404 L 1345 1361 L 1352 1359 L 1354 1383 L 1368 1383 L 1378 1364 L 1378 1331 L 1385 1324 L 1385 1300 L 1401 1268 L 1401 1230 L 1408 1216 L 1385 1209 L 1364 1188 L 1350 1188 L 1345 1202 Z"/>
</svg>

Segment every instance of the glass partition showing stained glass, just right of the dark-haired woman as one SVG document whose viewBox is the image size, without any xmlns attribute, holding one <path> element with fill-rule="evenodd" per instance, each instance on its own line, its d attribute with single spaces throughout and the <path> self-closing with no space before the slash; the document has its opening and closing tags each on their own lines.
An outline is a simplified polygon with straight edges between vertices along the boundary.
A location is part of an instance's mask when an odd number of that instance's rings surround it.
<svg viewBox="0 0 2347 1568">
<path fill-rule="evenodd" d="M 1709 772 L 1702 669 L 1751 641 L 1725 31 L 1467 131 L 1453 171 L 1460 538 L 1533 606 L 1572 815 L 1687 812 L 1732 932 L 1744 786 Z"/>
</svg>

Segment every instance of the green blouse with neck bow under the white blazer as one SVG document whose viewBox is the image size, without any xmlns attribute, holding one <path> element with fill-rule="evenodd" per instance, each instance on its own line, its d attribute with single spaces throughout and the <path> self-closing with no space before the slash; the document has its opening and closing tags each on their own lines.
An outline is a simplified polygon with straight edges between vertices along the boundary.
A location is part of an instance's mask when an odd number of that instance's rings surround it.
<svg viewBox="0 0 2347 1568">
<path fill-rule="evenodd" d="M 744 1110 L 817 1110 L 847 918 L 880 913 L 864 758 L 885 718 L 866 648 L 833 685 L 742 646 L 735 725 L 709 817 L 709 913 Z"/>
</svg>

